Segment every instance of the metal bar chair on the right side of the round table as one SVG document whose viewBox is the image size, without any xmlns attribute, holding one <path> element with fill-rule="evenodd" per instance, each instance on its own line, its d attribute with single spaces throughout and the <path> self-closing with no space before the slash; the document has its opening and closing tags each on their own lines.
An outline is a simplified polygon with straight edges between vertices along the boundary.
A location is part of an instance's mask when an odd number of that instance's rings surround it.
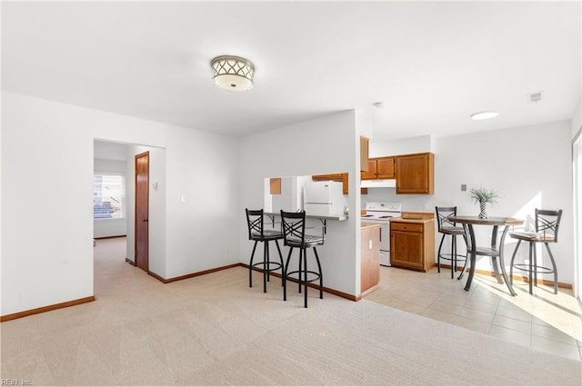
<svg viewBox="0 0 582 387">
<path fill-rule="evenodd" d="M 510 233 L 511 238 L 517 239 L 516 249 L 511 256 L 511 266 L 509 268 L 509 278 L 513 284 L 513 268 L 528 273 L 529 293 L 533 292 L 533 285 L 537 286 L 537 273 L 554 274 L 554 294 L 557 294 L 557 268 L 554 255 L 549 249 L 548 243 L 557 243 L 557 231 L 559 229 L 562 210 L 540 210 L 536 209 L 536 232 L 535 233 Z M 515 263 L 517 249 L 519 244 L 524 241 L 529 243 L 529 260 L 527 263 Z M 536 243 L 544 243 L 547 249 L 547 255 L 552 263 L 552 267 L 545 267 L 537 264 Z M 533 275 L 533 281 L 532 281 Z"/>
</svg>

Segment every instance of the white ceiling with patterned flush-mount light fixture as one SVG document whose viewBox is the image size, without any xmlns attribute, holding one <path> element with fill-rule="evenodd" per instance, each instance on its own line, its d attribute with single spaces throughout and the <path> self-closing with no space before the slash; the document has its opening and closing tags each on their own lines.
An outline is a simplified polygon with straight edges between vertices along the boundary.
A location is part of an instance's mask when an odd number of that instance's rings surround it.
<svg viewBox="0 0 582 387">
<path fill-rule="evenodd" d="M 2 88 L 223 134 L 346 109 L 376 141 L 461 134 L 569 119 L 581 19 L 579 1 L 2 2 Z M 253 61 L 254 89 L 217 89 L 218 55 Z"/>
</svg>

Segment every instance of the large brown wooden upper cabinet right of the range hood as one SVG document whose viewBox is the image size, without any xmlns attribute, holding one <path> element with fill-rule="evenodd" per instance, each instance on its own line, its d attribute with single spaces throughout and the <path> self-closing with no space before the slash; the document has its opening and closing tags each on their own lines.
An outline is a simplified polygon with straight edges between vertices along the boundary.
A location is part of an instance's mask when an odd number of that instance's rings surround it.
<svg viewBox="0 0 582 387">
<path fill-rule="evenodd" d="M 396 158 L 396 193 L 435 193 L 435 154 L 403 154 Z"/>
</svg>

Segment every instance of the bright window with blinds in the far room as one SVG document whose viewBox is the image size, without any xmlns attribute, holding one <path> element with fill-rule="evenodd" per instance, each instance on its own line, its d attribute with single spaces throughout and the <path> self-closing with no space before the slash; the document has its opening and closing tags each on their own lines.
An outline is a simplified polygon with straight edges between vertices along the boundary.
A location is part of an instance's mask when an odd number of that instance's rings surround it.
<svg viewBox="0 0 582 387">
<path fill-rule="evenodd" d="M 123 174 L 93 175 L 93 218 L 123 218 L 125 216 L 125 176 Z"/>
</svg>

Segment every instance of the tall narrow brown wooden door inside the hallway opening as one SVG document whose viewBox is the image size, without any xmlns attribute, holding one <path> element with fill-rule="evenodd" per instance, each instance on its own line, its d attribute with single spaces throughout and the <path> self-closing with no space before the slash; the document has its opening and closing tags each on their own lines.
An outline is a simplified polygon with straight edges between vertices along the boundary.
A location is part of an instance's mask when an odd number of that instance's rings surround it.
<svg viewBox="0 0 582 387">
<path fill-rule="evenodd" d="M 149 152 L 135 155 L 135 266 L 148 269 Z"/>
</svg>

